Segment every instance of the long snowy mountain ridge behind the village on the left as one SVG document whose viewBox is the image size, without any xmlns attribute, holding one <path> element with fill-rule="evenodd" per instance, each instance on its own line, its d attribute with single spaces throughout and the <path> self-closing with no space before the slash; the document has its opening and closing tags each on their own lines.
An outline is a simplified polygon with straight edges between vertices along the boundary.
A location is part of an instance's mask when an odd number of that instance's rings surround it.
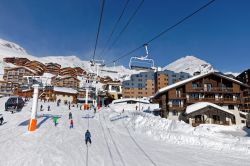
<svg viewBox="0 0 250 166">
<path fill-rule="evenodd" d="M 37 60 L 42 63 L 56 62 L 63 67 L 81 67 L 88 73 L 95 73 L 97 70 L 96 66 L 91 66 L 90 62 L 87 60 L 81 60 L 79 57 L 71 56 L 46 56 L 46 57 L 36 57 L 29 55 L 24 48 L 3 39 L 0 39 L 0 78 L 3 75 L 4 67 L 13 67 L 14 65 L 5 63 L 3 58 L 5 57 L 22 57 L 29 60 Z M 123 80 L 129 77 L 131 74 L 138 73 L 134 70 L 129 70 L 123 66 L 116 67 L 99 67 L 99 76 L 105 77 L 109 76 L 113 80 Z"/>
</svg>

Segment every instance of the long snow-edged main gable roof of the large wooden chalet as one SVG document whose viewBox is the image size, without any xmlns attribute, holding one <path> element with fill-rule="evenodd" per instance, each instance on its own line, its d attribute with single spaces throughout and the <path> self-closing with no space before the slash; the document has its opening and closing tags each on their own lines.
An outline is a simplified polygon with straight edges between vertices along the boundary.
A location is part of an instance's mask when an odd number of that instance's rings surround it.
<svg viewBox="0 0 250 166">
<path fill-rule="evenodd" d="M 225 79 L 227 79 L 227 80 L 231 80 L 231 81 L 236 82 L 236 83 L 238 83 L 238 84 L 240 84 L 240 85 L 243 85 L 243 86 L 247 86 L 247 87 L 248 87 L 248 85 L 246 85 L 246 84 L 244 84 L 244 83 L 242 83 L 242 82 L 240 82 L 240 81 L 238 81 L 238 80 L 236 80 L 236 79 L 233 79 L 233 78 L 230 78 L 230 77 L 227 77 L 227 76 L 225 76 L 225 75 L 222 75 L 222 74 L 219 74 L 219 73 L 216 73 L 216 72 L 213 72 L 213 71 L 212 71 L 212 72 L 200 74 L 200 75 L 197 75 L 197 76 L 193 76 L 193 77 L 191 77 L 191 78 L 188 78 L 188 79 L 185 79 L 185 80 L 183 80 L 183 81 L 179 81 L 179 82 L 177 82 L 177 83 L 175 83 L 175 84 L 172 84 L 172 85 L 166 86 L 166 87 L 164 87 L 164 88 L 161 88 L 161 89 L 159 89 L 159 90 L 156 92 L 156 94 L 154 95 L 154 97 L 156 97 L 157 95 L 159 95 L 159 94 L 161 94 L 161 93 L 167 92 L 167 91 L 170 90 L 170 89 L 173 89 L 173 88 L 176 88 L 176 87 L 178 87 L 178 86 L 184 85 L 184 84 L 186 84 L 186 83 L 188 83 L 188 82 L 190 82 L 190 81 L 194 81 L 194 80 L 203 78 L 203 77 L 205 77 L 205 76 L 207 76 L 207 75 L 210 75 L 210 74 L 215 74 L 215 75 L 217 75 L 217 76 L 219 76 L 219 77 L 225 78 Z"/>
</svg>

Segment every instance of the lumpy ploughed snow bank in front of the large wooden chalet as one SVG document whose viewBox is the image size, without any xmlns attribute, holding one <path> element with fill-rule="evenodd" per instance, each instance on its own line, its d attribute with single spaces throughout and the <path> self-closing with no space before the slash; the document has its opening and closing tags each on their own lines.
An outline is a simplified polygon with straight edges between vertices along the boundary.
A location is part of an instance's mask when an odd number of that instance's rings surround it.
<svg viewBox="0 0 250 166">
<path fill-rule="evenodd" d="M 220 129 L 225 130 L 227 128 L 225 126 L 201 125 L 194 128 L 185 122 L 163 119 L 145 113 L 132 113 L 125 123 L 135 131 L 145 133 L 156 140 L 250 153 L 250 138 L 217 133 Z"/>
</svg>

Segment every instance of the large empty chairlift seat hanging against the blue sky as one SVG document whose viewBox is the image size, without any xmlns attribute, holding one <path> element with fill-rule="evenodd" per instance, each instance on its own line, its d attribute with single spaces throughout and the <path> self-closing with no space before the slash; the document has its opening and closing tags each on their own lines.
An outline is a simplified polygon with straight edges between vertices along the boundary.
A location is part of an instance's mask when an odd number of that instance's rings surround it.
<svg viewBox="0 0 250 166">
<path fill-rule="evenodd" d="M 155 69 L 154 60 L 148 58 L 148 44 L 144 44 L 146 55 L 141 57 L 131 57 L 129 61 L 129 68 L 136 70 Z"/>
</svg>

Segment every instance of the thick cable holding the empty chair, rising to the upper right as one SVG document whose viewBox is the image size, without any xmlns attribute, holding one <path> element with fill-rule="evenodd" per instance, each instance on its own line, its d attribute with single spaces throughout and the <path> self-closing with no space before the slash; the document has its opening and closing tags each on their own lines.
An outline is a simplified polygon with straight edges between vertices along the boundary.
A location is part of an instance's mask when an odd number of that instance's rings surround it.
<svg viewBox="0 0 250 166">
<path fill-rule="evenodd" d="M 197 14 L 198 12 L 200 12 L 201 10 L 205 9 L 206 7 L 208 7 L 209 5 L 211 5 L 215 0 L 211 0 L 209 1 L 208 3 L 206 3 L 205 5 L 201 6 L 199 9 L 195 10 L 194 12 L 192 12 L 191 14 L 187 15 L 186 17 L 180 19 L 179 21 L 177 21 L 177 23 L 175 23 L 174 25 L 168 27 L 167 29 L 163 30 L 162 32 L 160 32 L 159 34 L 157 34 L 155 37 L 151 38 L 150 40 L 148 40 L 146 43 L 150 43 L 150 42 L 153 42 L 154 40 L 158 39 L 159 37 L 161 37 L 162 35 L 164 35 L 165 33 L 167 33 L 168 31 L 172 30 L 173 28 L 177 27 L 178 25 L 180 25 L 181 23 L 185 22 L 186 20 L 188 20 L 189 18 L 191 18 L 192 16 L 194 16 L 195 14 Z M 140 45 L 138 46 L 137 48 L 129 51 L 128 53 L 120 56 L 119 58 L 113 60 L 112 62 L 110 63 L 114 63 L 132 53 L 134 53 L 135 51 L 139 50 L 140 48 L 142 48 L 143 45 Z M 107 63 L 107 64 L 110 64 L 110 63 Z"/>
</svg>

